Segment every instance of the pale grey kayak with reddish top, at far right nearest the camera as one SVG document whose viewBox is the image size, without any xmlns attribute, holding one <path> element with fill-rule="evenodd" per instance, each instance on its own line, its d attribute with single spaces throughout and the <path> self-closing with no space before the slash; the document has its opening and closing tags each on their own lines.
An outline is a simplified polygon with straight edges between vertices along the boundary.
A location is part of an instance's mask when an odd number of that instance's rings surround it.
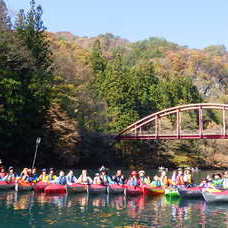
<svg viewBox="0 0 228 228">
<path fill-rule="evenodd" d="M 208 203 L 228 202 L 228 190 L 216 191 L 216 192 L 202 191 L 202 194 L 203 194 L 203 198 Z"/>
</svg>

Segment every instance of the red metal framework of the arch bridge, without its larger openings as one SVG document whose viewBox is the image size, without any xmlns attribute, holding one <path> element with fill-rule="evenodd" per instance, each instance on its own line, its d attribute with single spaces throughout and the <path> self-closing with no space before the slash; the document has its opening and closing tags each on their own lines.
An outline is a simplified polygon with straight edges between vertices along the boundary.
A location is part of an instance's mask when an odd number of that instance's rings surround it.
<svg viewBox="0 0 228 228">
<path fill-rule="evenodd" d="M 221 111 L 221 128 L 216 132 L 209 132 L 204 129 L 203 112 L 208 109 Z M 198 118 L 198 129 L 190 133 L 186 133 L 181 128 L 182 113 L 188 111 L 196 112 Z M 172 134 L 164 134 L 161 132 L 160 123 L 163 118 L 167 118 L 170 115 L 175 116 L 175 131 Z M 180 105 L 153 113 L 136 121 L 121 131 L 117 138 L 120 140 L 228 139 L 226 115 L 228 115 L 228 104 L 199 103 Z M 148 130 L 151 125 L 154 126 L 154 132 Z M 146 128 L 147 130 L 145 130 Z"/>
</svg>

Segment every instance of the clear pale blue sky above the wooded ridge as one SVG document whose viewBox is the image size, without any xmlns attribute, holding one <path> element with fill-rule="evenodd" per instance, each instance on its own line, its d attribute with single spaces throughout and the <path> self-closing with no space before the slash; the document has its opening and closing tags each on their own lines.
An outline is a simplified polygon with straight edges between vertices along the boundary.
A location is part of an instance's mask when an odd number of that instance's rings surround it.
<svg viewBox="0 0 228 228">
<path fill-rule="evenodd" d="M 13 16 L 30 0 L 5 0 Z M 113 33 L 129 41 L 162 37 L 204 48 L 228 47 L 228 0 L 36 0 L 48 31 Z"/>
</svg>

